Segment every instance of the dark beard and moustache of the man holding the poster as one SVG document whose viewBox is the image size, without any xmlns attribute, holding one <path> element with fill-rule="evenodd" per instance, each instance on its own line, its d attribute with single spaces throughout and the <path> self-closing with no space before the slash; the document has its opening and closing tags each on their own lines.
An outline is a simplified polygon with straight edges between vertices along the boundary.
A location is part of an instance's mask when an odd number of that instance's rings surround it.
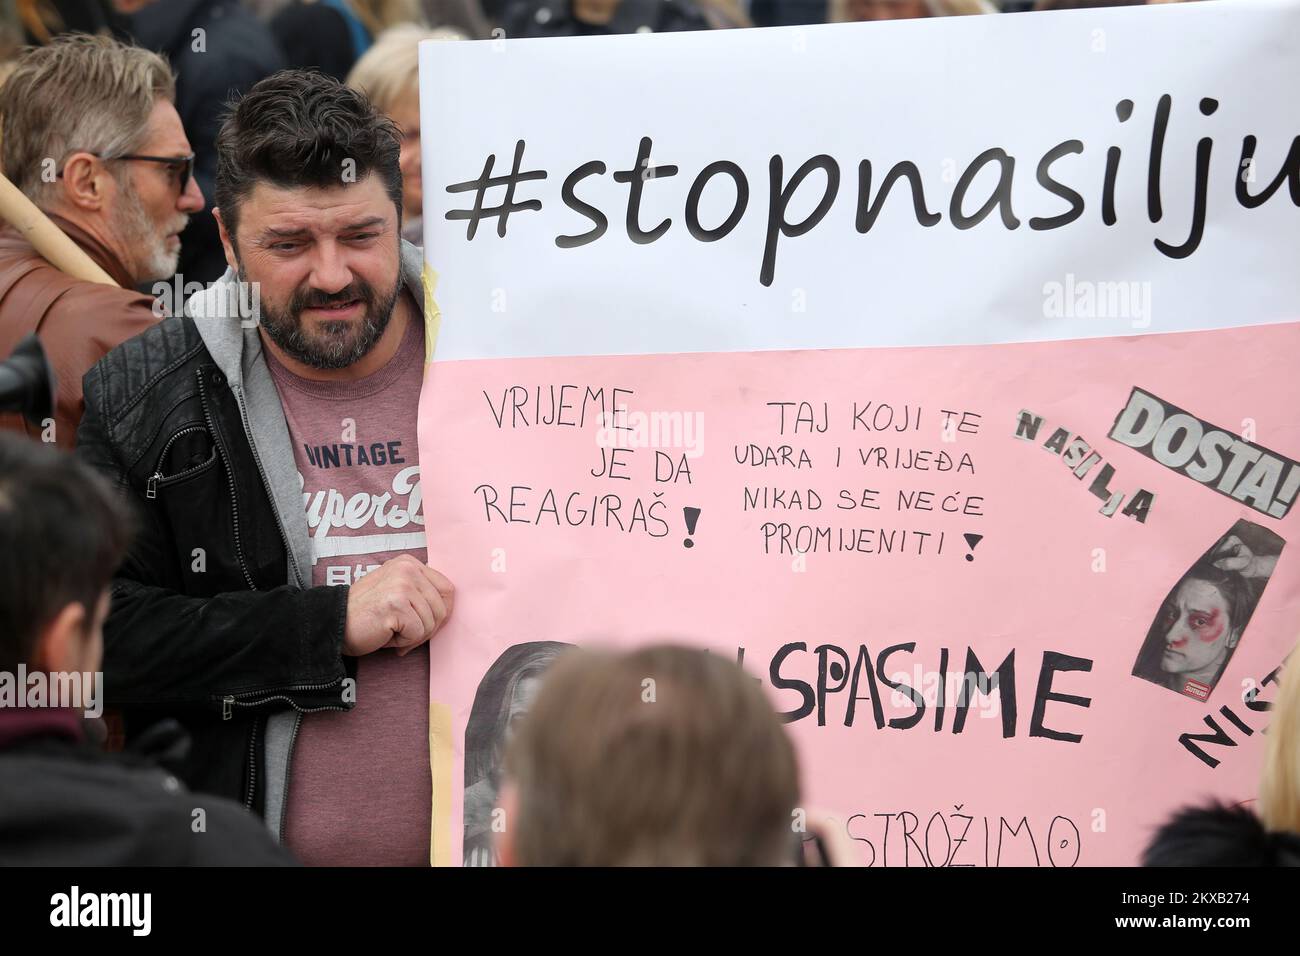
<svg viewBox="0 0 1300 956">
<path fill-rule="evenodd" d="M 239 281 L 247 284 L 248 274 L 239 264 Z M 374 286 L 356 280 L 337 293 L 299 287 L 281 310 L 261 302 L 260 325 L 266 336 L 290 358 L 320 369 L 347 368 L 370 354 L 389 328 L 393 307 L 402 287 L 400 271 L 391 291 L 382 299 Z M 360 320 L 329 320 L 317 323 L 315 332 L 303 328 L 303 310 L 359 300 L 365 307 Z"/>
</svg>

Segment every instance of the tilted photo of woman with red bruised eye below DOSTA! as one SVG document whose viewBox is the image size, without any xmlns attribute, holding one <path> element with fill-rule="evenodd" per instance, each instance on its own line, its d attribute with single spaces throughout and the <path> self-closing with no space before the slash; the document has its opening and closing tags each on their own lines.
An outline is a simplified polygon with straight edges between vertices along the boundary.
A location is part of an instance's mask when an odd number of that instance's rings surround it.
<svg viewBox="0 0 1300 956">
<path fill-rule="evenodd" d="M 1134 676 L 1208 700 L 1245 632 L 1284 542 L 1240 520 L 1165 597 Z"/>
</svg>

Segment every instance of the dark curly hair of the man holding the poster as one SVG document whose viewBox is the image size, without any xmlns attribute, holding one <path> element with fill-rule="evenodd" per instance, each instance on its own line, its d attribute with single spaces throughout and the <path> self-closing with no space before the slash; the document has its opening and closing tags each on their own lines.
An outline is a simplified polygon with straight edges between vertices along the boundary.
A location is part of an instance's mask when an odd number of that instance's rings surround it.
<svg viewBox="0 0 1300 956">
<path fill-rule="evenodd" d="M 254 186 L 384 179 L 402 228 L 399 133 L 364 94 L 311 70 L 281 70 L 233 101 L 217 134 L 216 204 L 231 238 Z M 351 164 L 347 164 L 351 160 Z"/>
</svg>

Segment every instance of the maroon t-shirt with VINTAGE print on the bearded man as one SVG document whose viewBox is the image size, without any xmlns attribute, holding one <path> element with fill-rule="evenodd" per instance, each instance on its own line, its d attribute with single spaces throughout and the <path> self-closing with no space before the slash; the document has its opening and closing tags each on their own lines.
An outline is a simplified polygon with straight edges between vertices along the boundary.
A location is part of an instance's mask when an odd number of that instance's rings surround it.
<svg viewBox="0 0 1300 956">
<path fill-rule="evenodd" d="M 294 442 L 312 536 L 312 584 L 351 584 L 399 554 L 426 561 L 416 411 L 424 325 L 373 375 L 303 378 L 266 352 Z M 304 714 L 285 844 L 321 866 L 428 866 L 429 649 L 358 658 L 356 706 Z"/>
</svg>

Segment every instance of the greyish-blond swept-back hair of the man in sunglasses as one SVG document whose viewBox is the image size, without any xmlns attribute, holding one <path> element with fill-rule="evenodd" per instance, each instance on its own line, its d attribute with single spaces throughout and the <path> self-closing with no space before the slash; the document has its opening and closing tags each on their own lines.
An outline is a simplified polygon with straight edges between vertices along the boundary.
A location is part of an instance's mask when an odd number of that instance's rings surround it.
<svg viewBox="0 0 1300 956">
<path fill-rule="evenodd" d="M 42 206 L 56 189 L 43 177 L 47 160 L 62 169 L 78 150 L 131 152 L 159 99 L 176 99 L 176 79 L 157 53 L 108 36 L 56 36 L 25 52 L 0 86 L 0 169 Z"/>
</svg>

